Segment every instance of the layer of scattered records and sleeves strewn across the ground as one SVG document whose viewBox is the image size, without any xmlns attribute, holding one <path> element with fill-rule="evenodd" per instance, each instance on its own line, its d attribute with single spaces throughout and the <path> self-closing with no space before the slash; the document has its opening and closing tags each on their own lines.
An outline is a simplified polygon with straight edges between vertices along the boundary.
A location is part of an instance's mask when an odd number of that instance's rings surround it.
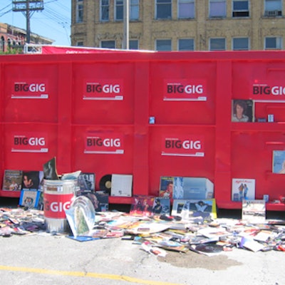
<svg viewBox="0 0 285 285">
<path fill-rule="evenodd" d="M 43 211 L 25 208 L 0 208 L 0 236 L 46 233 Z M 239 219 L 193 219 L 154 215 L 140 217 L 126 212 L 96 212 L 93 228 L 75 236 L 71 230 L 61 234 L 79 242 L 120 238 L 140 244 L 145 252 L 165 258 L 169 252 L 195 252 L 206 256 L 234 249 L 252 252 L 285 252 L 285 221 L 266 219 L 249 224 Z"/>
</svg>

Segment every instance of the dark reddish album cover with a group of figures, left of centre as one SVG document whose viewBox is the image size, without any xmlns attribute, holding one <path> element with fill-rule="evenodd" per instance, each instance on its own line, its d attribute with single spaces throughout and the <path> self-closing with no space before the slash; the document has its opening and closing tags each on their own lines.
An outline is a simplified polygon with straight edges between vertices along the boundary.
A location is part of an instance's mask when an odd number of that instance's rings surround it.
<svg viewBox="0 0 285 285">
<path fill-rule="evenodd" d="M 154 203 L 155 197 L 153 196 L 135 195 L 130 205 L 130 214 L 152 216 Z"/>
</svg>

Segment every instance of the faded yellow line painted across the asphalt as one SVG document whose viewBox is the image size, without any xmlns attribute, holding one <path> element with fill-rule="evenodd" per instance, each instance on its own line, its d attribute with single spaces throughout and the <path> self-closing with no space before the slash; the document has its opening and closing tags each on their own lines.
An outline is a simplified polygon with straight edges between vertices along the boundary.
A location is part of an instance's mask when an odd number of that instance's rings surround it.
<svg viewBox="0 0 285 285">
<path fill-rule="evenodd" d="M 149 281 L 145 279 L 133 278 L 130 276 L 124 275 L 115 275 L 115 274 L 100 274 L 93 272 L 81 272 L 81 271 L 60 271 L 60 270 L 48 270 L 48 269 L 36 269 L 29 267 L 18 267 L 18 266 L 5 266 L 0 265 L 0 271 L 21 271 L 21 272 L 30 272 L 36 274 L 50 274 L 50 275 L 62 275 L 62 276 L 76 276 L 76 277 L 90 277 L 98 279 L 111 279 L 118 281 L 128 281 L 138 284 L 147 284 L 147 285 L 182 285 L 177 283 L 161 282 L 161 281 Z"/>
</svg>

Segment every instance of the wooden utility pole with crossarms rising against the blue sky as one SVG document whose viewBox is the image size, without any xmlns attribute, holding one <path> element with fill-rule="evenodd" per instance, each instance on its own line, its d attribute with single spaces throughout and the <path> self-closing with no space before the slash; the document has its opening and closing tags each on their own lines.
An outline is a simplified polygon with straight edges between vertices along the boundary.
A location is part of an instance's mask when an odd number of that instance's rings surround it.
<svg viewBox="0 0 285 285">
<path fill-rule="evenodd" d="M 34 11 L 43 10 L 43 0 L 13 0 L 12 3 L 14 12 L 23 12 L 26 16 L 26 43 L 30 43 L 30 19 Z"/>
</svg>

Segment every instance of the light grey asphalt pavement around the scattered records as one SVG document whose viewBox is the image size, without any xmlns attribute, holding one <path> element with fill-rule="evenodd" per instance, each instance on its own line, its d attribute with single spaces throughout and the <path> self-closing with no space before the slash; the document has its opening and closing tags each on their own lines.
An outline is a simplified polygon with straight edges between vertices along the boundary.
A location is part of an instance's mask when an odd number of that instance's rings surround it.
<svg viewBox="0 0 285 285">
<path fill-rule="evenodd" d="M 0 200 L 1 207 L 16 204 Z M 122 207 L 110 205 L 111 209 Z M 238 210 L 219 210 L 218 217 L 239 219 L 239 214 Z M 270 219 L 284 219 L 282 212 L 267 214 Z M 212 256 L 168 252 L 166 257 L 157 257 L 130 240 L 78 242 L 48 233 L 0 237 L 0 247 L 0 280 L 5 285 L 285 284 L 285 252 L 274 250 L 233 249 Z"/>
</svg>

